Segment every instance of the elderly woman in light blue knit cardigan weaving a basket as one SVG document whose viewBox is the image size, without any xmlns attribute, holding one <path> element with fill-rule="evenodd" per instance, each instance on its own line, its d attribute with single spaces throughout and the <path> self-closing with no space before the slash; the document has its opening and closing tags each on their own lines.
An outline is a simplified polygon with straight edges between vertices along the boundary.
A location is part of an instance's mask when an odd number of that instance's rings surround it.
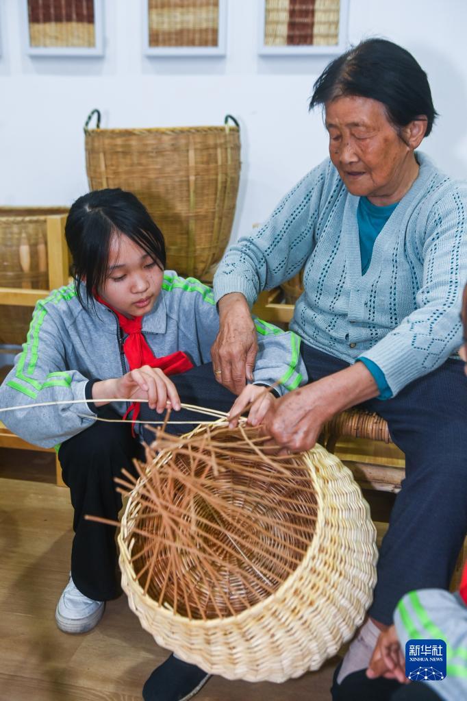
<svg viewBox="0 0 467 701">
<path fill-rule="evenodd" d="M 336 689 L 368 667 L 403 594 L 449 585 L 467 531 L 467 402 L 455 355 L 467 185 L 416 150 L 436 113 L 426 74 L 400 46 L 370 39 L 337 57 L 314 85 L 317 105 L 330 157 L 226 252 L 211 353 L 218 381 L 239 393 L 256 354 L 249 307 L 304 268 L 291 329 L 312 381 L 271 399 L 263 430 L 288 451 L 309 449 L 323 423 L 358 405 L 384 417 L 405 452 L 374 601 Z"/>
</svg>

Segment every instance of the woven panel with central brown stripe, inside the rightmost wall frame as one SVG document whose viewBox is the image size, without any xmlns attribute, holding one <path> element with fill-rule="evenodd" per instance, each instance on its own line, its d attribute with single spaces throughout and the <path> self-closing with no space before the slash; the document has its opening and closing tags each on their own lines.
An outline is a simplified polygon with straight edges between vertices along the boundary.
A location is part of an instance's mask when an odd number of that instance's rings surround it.
<svg viewBox="0 0 467 701">
<path fill-rule="evenodd" d="M 340 0 L 265 0 L 265 46 L 337 46 Z"/>
</svg>

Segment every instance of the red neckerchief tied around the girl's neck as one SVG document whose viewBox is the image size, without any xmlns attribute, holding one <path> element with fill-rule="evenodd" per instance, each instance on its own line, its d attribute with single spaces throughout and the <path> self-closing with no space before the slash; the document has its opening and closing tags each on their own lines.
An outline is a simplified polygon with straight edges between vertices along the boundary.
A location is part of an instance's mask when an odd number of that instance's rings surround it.
<svg viewBox="0 0 467 701">
<path fill-rule="evenodd" d="M 130 365 L 130 370 L 139 369 L 142 365 L 149 365 L 149 367 L 159 367 L 166 375 L 178 375 L 195 367 L 188 355 L 183 353 L 183 351 L 176 351 L 170 355 L 164 355 L 162 358 L 156 358 L 141 332 L 143 325 L 141 316 L 129 319 L 120 314 L 113 306 L 107 304 L 98 294 L 95 294 L 95 298 L 116 314 L 120 328 L 127 334 L 123 342 L 123 353 L 125 353 L 125 358 L 128 361 L 128 365 Z M 133 402 L 123 418 L 127 418 L 129 414 L 133 413 L 131 421 L 136 421 L 139 416 L 139 409 L 139 402 Z M 134 426 L 132 426 L 132 433 L 134 435 Z"/>
</svg>

